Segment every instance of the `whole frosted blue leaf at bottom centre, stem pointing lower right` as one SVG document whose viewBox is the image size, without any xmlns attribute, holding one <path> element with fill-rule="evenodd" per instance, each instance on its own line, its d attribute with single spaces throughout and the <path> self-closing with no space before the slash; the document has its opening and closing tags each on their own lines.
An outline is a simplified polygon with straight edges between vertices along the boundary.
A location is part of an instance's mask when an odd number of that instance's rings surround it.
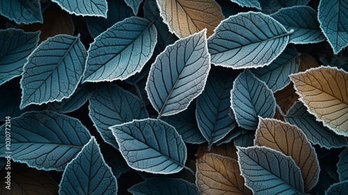
<svg viewBox="0 0 348 195">
<path fill-rule="evenodd" d="M 133 120 L 110 127 L 132 169 L 171 174 L 182 170 L 187 148 L 175 128 L 162 120 Z"/>
</svg>

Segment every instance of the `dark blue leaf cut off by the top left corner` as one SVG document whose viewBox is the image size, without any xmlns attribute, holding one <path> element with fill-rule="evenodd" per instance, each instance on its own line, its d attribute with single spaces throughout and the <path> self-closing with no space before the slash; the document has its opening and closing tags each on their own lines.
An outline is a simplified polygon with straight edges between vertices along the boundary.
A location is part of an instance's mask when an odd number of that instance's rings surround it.
<svg viewBox="0 0 348 195">
<path fill-rule="evenodd" d="M 0 14 L 17 24 L 43 22 L 39 0 L 1 0 L 0 5 Z"/>
</svg>

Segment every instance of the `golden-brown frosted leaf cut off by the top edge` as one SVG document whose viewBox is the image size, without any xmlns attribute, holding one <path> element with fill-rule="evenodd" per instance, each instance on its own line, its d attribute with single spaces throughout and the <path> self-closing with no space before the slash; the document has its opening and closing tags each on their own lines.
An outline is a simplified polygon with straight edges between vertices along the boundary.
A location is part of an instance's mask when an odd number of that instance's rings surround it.
<svg viewBox="0 0 348 195">
<path fill-rule="evenodd" d="M 169 31 L 184 38 L 203 29 L 207 36 L 223 20 L 221 8 L 214 0 L 157 0 L 159 11 Z"/>
</svg>

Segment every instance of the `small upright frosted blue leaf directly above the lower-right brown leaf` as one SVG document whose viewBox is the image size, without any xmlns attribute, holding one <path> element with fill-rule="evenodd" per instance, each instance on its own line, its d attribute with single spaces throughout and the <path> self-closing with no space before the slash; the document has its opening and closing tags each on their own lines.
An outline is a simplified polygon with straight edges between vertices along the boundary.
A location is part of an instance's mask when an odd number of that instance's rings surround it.
<svg viewBox="0 0 348 195">
<path fill-rule="evenodd" d="M 272 118 L 276 99 L 267 85 L 249 70 L 244 70 L 233 82 L 231 108 L 237 123 L 247 130 L 256 130 L 258 116 Z"/>
</svg>

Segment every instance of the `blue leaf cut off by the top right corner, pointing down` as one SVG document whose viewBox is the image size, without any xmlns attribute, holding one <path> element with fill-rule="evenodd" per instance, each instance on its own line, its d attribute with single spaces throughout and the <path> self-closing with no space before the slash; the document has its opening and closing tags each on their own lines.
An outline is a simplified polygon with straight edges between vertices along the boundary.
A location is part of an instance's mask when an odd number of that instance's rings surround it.
<svg viewBox="0 0 348 195">
<path fill-rule="evenodd" d="M 348 3 L 340 0 L 321 0 L 318 6 L 320 29 L 329 41 L 334 54 L 348 45 Z"/>
</svg>

